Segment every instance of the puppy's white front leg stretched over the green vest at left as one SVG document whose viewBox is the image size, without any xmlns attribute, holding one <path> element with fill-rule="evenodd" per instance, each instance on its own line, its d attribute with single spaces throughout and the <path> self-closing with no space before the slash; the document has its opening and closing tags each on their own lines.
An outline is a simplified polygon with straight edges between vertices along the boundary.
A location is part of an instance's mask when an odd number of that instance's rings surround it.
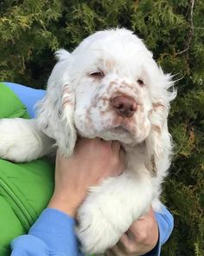
<svg viewBox="0 0 204 256">
<path fill-rule="evenodd" d="M 48 153 L 52 141 L 44 139 L 34 120 L 0 120 L 0 159 L 32 161 Z"/>
</svg>

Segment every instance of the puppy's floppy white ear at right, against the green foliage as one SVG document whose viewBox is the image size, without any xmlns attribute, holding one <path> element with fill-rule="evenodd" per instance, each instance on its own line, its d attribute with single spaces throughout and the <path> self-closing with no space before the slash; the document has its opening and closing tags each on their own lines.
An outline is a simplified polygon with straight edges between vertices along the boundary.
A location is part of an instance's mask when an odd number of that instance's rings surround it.
<svg viewBox="0 0 204 256">
<path fill-rule="evenodd" d="M 160 70 L 162 72 L 162 70 Z M 163 75 L 163 73 L 162 73 Z M 151 123 L 150 135 L 146 139 L 145 166 L 152 176 L 156 176 L 158 170 L 162 175 L 170 165 L 172 154 L 172 141 L 169 134 L 167 119 L 169 115 L 169 102 L 175 98 L 176 92 L 169 92 L 168 89 L 173 85 L 170 75 L 163 75 L 164 85 L 160 88 L 162 95 L 154 97 L 152 109 L 149 113 Z"/>
</svg>

